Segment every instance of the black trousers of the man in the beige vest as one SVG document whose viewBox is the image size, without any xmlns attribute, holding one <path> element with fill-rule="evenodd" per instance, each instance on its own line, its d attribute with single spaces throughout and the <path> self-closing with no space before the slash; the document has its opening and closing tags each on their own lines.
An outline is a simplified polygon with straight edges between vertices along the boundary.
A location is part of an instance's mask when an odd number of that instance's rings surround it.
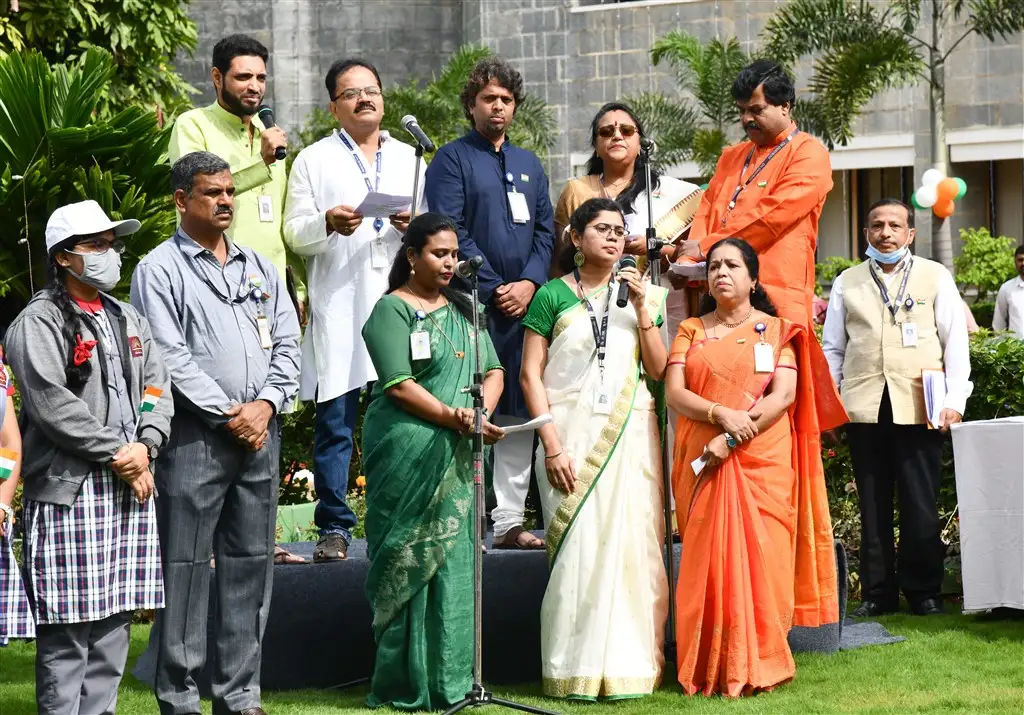
<svg viewBox="0 0 1024 715">
<path fill-rule="evenodd" d="M 860 497 L 860 584 L 864 600 L 895 607 L 938 598 L 945 549 L 940 538 L 942 435 L 893 424 L 886 390 L 879 423 L 847 425 Z M 893 491 L 899 497 L 899 555 L 893 543 Z"/>
</svg>

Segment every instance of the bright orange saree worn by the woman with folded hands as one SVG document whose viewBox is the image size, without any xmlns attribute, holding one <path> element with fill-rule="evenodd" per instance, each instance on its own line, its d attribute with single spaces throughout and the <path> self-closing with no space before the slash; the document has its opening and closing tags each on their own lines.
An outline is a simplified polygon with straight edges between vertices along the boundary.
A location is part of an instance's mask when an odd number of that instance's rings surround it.
<svg viewBox="0 0 1024 715">
<path fill-rule="evenodd" d="M 688 695 L 739 697 L 784 683 L 796 671 L 790 628 L 839 621 L 819 425 L 834 427 L 845 413 L 838 402 L 815 406 L 820 372 L 811 350 L 818 346 L 806 331 L 780 319 L 767 325 L 776 369 L 798 372 L 788 412 L 699 476 L 690 465 L 721 427 L 684 417 L 677 424 L 672 476 L 683 552 L 676 640 Z M 773 378 L 755 372 L 758 340 L 753 325 L 709 340 L 691 319 L 680 326 L 670 361 L 685 363 L 689 390 L 745 411 Z"/>
</svg>

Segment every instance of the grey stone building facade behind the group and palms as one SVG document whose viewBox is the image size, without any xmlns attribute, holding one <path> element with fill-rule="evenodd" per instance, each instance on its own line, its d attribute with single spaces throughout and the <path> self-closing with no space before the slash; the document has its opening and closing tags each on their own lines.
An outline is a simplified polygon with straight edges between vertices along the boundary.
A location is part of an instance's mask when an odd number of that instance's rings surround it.
<svg viewBox="0 0 1024 715">
<path fill-rule="evenodd" d="M 928 0 L 926 0 L 926 3 Z M 701 40 L 736 37 L 746 51 L 782 0 L 193 0 L 200 29 L 196 57 L 179 62 L 212 99 L 209 57 L 221 36 L 244 32 L 271 52 L 267 101 L 291 132 L 326 106 L 324 75 L 335 59 L 361 55 L 385 86 L 429 79 L 455 49 L 484 44 L 522 72 L 528 91 L 553 109 L 561 128 L 547 158 L 552 191 L 590 156 L 589 125 L 605 101 L 641 91 L 680 96 L 671 72 L 649 50 L 672 30 Z M 927 8 L 923 15 L 928 16 Z M 951 27 L 951 38 L 962 28 Z M 1024 38 L 972 36 L 947 65 L 946 123 L 951 174 L 968 183 L 950 219 L 1024 241 Z M 798 72 L 798 86 L 806 80 Z M 859 255 L 866 207 L 909 196 L 929 168 L 928 88 L 921 84 L 873 100 L 856 136 L 833 154 L 836 187 L 822 215 L 819 256 Z M 735 137 L 739 137 L 738 128 Z M 655 137 L 656 138 L 656 137 Z M 698 178 L 689 164 L 670 171 Z M 931 212 L 918 213 L 918 251 L 930 255 Z M 954 240 L 954 246 L 958 241 Z"/>
</svg>

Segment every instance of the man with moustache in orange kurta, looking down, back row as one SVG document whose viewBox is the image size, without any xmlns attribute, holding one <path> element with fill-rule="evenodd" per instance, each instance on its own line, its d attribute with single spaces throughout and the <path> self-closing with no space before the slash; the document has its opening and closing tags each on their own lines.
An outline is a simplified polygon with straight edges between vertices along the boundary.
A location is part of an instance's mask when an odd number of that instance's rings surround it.
<svg viewBox="0 0 1024 715">
<path fill-rule="evenodd" d="M 683 254 L 702 256 L 721 239 L 743 239 L 758 253 L 761 283 L 779 317 L 809 327 L 818 218 L 833 187 L 828 152 L 797 130 L 796 90 L 777 62 L 744 68 L 732 96 L 750 141 L 722 153 Z"/>
</svg>

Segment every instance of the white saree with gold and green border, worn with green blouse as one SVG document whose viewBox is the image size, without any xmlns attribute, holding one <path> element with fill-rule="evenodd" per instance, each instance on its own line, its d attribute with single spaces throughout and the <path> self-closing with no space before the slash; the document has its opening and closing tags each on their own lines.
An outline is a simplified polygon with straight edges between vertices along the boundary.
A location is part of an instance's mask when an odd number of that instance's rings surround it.
<svg viewBox="0 0 1024 715">
<path fill-rule="evenodd" d="M 665 297 L 648 285 L 655 321 Z M 600 323 L 607 291 L 591 301 Z M 551 569 L 541 607 L 544 691 L 556 698 L 641 697 L 660 682 L 665 665 L 660 443 L 632 303 L 612 306 L 608 320 L 607 415 L 594 411 L 599 380 L 593 329 L 580 304 L 557 318 L 544 371 L 554 425 L 575 467 L 572 494 L 548 481 L 543 448 L 536 462 Z"/>
</svg>

